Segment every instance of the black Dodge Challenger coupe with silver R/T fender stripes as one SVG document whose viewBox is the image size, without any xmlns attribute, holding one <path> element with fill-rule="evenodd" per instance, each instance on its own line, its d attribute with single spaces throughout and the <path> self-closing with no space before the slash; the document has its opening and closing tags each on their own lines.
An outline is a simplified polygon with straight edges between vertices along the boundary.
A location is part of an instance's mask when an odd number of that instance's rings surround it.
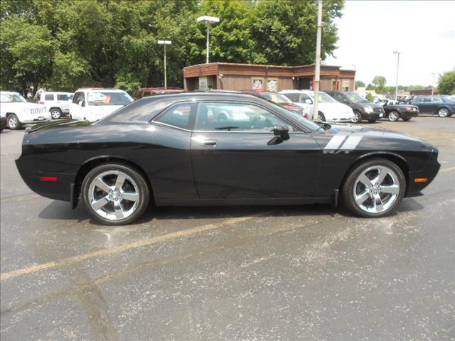
<svg viewBox="0 0 455 341">
<path fill-rule="evenodd" d="M 274 102 L 223 92 L 146 97 L 95 121 L 26 130 L 19 173 L 36 193 L 85 202 L 105 224 L 156 205 L 338 204 L 382 217 L 439 171 L 412 136 L 312 122 Z"/>
</svg>

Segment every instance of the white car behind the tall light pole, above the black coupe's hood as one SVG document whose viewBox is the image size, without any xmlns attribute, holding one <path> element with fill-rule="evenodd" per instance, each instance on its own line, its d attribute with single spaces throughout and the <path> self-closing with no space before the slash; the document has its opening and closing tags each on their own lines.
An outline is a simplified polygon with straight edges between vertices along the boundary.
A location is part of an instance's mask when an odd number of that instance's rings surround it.
<svg viewBox="0 0 455 341">
<path fill-rule="evenodd" d="M 283 90 L 279 92 L 291 99 L 292 103 L 303 107 L 309 112 L 309 117 L 313 117 L 314 112 L 314 92 L 310 90 Z M 353 109 L 346 104 L 342 104 L 333 99 L 325 92 L 319 92 L 318 106 L 319 121 L 328 122 L 350 122 L 353 117 Z"/>
</svg>

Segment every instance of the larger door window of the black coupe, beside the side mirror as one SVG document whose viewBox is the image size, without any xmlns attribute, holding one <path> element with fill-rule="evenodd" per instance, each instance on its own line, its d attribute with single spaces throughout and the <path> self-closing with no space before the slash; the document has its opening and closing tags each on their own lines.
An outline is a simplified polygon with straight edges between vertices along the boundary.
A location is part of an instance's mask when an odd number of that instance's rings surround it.
<svg viewBox="0 0 455 341">
<path fill-rule="evenodd" d="M 293 127 L 277 115 L 252 104 L 202 102 L 196 115 L 198 131 L 271 131 L 277 124 Z"/>
</svg>

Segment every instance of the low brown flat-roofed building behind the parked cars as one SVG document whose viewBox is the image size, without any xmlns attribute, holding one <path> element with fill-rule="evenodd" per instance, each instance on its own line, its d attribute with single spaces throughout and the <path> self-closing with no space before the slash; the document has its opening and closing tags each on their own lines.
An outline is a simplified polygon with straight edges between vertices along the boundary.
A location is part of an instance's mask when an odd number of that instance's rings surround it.
<svg viewBox="0 0 455 341">
<path fill-rule="evenodd" d="M 321 90 L 354 90 L 355 71 L 321 65 Z M 277 66 L 208 63 L 183 68 L 185 90 L 309 90 L 314 65 Z"/>
</svg>

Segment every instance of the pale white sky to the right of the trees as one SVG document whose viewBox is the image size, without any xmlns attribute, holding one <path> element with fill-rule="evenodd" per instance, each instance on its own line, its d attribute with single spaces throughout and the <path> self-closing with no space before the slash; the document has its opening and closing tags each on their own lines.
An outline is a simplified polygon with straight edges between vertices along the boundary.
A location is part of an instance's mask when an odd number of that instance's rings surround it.
<svg viewBox="0 0 455 341">
<path fill-rule="evenodd" d="M 432 72 L 455 70 L 455 1 L 347 0 L 338 24 L 338 49 L 326 65 L 355 69 L 368 85 L 375 75 L 395 86 L 431 85 Z M 353 66 L 355 65 L 355 66 Z"/>
</svg>

